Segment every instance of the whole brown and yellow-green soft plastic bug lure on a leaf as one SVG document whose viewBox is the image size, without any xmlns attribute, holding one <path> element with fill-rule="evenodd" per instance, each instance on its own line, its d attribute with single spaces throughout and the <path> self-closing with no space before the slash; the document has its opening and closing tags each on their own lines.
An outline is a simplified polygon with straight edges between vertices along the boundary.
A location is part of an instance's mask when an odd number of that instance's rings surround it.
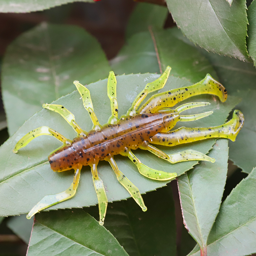
<svg viewBox="0 0 256 256">
<path fill-rule="evenodd" d="M 218 96 L 220 101 L 224 102 L 227 99 L 227 92 L 223 85 L 214 80 L 210 75 L 206 75 L 202 81 L 194 85 L 155 94 L 140 107 L 149 92 L 154 92 L 164 87 L 170 70 L 171 68 L 168 66 L 158 79 L 148 83 L 133 101 L 132 107 L 127 111 L 127 114 L 121 116 L 120 119 L 118 118 L 116 99 L 116 77 L 114 72 L 111 71 L 108 76 L 107 89 L 112 115 L 109 117 L 108 123 L 103 126 L 100 125 L 93 111 L 89 90 L 78 81 L 74 81 L 83 100 L 84 107 L 92 119 L 93 127 L 90 132 L 82 130 L 76 124 L 74 115 L 65 107 L 43 104 L 44 108 L 60 114 L 73 127 L 77 136 L 75 139 L 69 140 L 51 128 L 42 126 L 22 137 L 17 142 L 13 152 L 17 153 L 20 148 L 25 147 L 31 140 L 40 135 L 52 135 L 63 142 L 63 146 L 56 149 L 48 157 L 52 170 L 62 172 L 74 169 L 75 174 L 74 180 L 67 190 L 59 194 L 44 196 L 28 213 L 28 219 L 47 207 L 73 197 L 76 194 L 82 166 L 90 165 L 92 180 L 99 202 L 100 225 L 103 225 L 108 199 L 103 181 L 97 172 L 97 165 L 101 160 L 109 162 L 116 174 L 117 180 L 127 189 L 142 210 L 146 211 L 147 207 L 143 202 L 139 189 L 118 169 L 114 160 L 114 155 L 117 154 L 128 156 L 137 166 L 140 174 L 153 180 L 172 180 L 177 174 L 155 170 L 142 164 L 131 150 L 137 148 L 148 150 L 172 164 L 193 160 L 215 162 L 213 158 L 195 150 L 186 150 L 168 155 L 151 145 L 175 146 L 208 138 L 228 138 L 235 141 L 244 123 L 243 114 L 239 110 L 235 110 L 232 119 L 219 126 L 209 128 L 181 127 L 171 131 L 178 121 L 197 120 L 211 115 L 212 111 L 196 115 L 180 115 L 180 113 L 187 109 L 209 105 L 210 103 L 208 102 L 190 102 L 180 105 L 175 109 L 170 107 L 175 106 L 182 100 L 200 94 L 213 94 Z"/>
</svg>

